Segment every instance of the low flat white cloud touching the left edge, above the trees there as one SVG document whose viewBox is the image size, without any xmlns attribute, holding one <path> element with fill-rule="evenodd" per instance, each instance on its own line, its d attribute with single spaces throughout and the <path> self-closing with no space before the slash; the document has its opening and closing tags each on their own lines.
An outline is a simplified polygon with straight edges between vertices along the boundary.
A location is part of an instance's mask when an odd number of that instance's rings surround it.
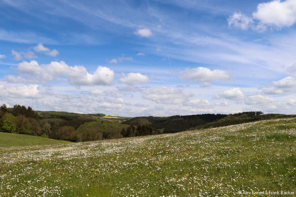
<svg viewBox="0 0 296 197">
<path fill-rule="evenodd" d="M 38 85 L 0 86 L 0 97 L 4 98 L 39 98 Z"/>
</svg>

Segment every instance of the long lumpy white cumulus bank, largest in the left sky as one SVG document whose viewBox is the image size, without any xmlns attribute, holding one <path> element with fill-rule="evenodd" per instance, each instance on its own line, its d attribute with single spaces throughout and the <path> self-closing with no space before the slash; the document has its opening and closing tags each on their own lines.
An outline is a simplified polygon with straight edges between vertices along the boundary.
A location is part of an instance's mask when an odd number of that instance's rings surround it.
<svg viewBox="0 0 296 197">
<path fill-rule="evenodd" d="M 42 82 L 65 76 L 70 84 L 79 86 L 111 85 L 114 78 L 113 71 L 108 67 L 98 66 L 95 72 L 91 74 L 84 66 L 68 66 L 62 61 L 41 66 L 37 61 L 24 61 L 17 66 L 17 70 L 21 76 L 37 77 Z"/>
</svg>

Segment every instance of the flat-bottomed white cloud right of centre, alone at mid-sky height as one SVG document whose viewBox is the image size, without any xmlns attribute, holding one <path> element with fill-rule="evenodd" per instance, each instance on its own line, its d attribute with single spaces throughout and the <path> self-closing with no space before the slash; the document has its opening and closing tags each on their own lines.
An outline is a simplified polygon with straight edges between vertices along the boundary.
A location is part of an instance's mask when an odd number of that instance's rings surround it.
<svg viewBox="0 0 296 197">
<path fill-rule="evenodd" d="M 180 78 L 189 81 L 203 82 L 204 86 L 209 86 L 209 82 L 228 79 L 229 74 L 223 70 L 210 70 L 206 67 L 196 67 L 186 69 Z"/>
</svg>

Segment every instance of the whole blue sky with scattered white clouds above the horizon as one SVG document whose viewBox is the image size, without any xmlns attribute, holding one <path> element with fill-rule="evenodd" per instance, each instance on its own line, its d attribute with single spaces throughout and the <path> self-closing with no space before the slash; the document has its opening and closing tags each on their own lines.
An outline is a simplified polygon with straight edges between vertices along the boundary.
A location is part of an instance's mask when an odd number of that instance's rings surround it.
<svg viewBox="0 0 296 197">
<path fill-rule="evenodd" d="M 296 113 L 296 0 L 0 0 L 0 103 Z"/>
</svg>

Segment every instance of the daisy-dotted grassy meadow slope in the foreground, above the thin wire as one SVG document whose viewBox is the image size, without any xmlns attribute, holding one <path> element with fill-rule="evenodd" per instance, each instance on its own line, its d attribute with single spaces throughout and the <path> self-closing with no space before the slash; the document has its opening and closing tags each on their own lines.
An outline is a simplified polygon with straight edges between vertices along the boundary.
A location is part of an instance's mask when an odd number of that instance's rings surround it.
<svg viewBox="0 0 296 197">
<path fill-rule="evenodd" d="M 185 196 L 294 177 L 296 118 L 45 148 L 0 148 L 0 175 L 1 197 Z M 296 192 L 295 180 L 244 190 Z M 238 191 L 223 195 L 247 196 Z M 204 196 L 216 195 L 222 196 Z"/>
</svg>

